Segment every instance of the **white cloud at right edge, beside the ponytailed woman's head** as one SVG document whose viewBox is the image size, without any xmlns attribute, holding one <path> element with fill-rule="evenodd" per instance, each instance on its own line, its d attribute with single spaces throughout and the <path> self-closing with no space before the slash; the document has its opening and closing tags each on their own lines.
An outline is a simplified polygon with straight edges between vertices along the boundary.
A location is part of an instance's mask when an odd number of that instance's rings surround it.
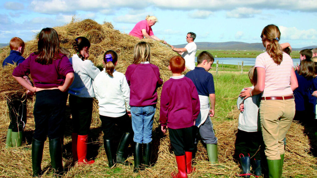
<svg viewBox="0 0 317 178">
<path fill-rule="evenodd" d="M 317 40 L 316 29 L 299 30 L 296 27 L 279 26 L 281 39 L 285 40 Z"/>
</svg>

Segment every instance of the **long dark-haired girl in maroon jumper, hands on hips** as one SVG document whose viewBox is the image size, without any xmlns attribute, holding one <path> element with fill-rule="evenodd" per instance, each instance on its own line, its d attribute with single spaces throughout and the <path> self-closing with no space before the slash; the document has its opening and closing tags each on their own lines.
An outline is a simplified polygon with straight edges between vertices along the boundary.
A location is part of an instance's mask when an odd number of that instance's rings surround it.
<svg viewBox="0 0 317 178">
<path fill-rule="evenodd" d="M 26 89 L 36 92 L 34 104 L 35 130 L 32 141 L 33 177 L 42 175 L 41 163 L 44 142 L 49 137 L 51 165 L 55 173 L 62 172 L 61 137 L 68 87 L 74 80 L 74 70 L 60 51 L 60 41 L 53 28 L 43 28 L 39 34 L 38 51 L 31 53 L 13 71 L 13 77 Z M 23 76 L 31 77 L 34 86 Z"/>
</svg>

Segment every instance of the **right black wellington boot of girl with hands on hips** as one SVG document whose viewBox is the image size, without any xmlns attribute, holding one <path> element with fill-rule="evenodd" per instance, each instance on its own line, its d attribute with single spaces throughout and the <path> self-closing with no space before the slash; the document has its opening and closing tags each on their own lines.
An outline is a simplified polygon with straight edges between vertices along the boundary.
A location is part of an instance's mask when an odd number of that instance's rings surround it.
<svg viewBox="0 0 317 178">
<path fill-rule="evenodd" d="M 49 154 L 51 156 L 51 165 L 55 169 L 54 174 L 58 177 L 63 174 L 61 138 L 49 140 Z"/>
</svg>

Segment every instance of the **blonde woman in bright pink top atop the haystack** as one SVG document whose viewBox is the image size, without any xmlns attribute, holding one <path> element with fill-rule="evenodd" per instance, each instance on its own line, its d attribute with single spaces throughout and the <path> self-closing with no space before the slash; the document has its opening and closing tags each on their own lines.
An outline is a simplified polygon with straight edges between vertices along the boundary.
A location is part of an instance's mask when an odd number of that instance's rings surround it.
<svg viewBox="0 0 317 178">
<path fill-rule="evenodd" d="M 153 25 L 155 25 L 157 21 L 158 19 L 155 16 L 148 15 L 146 16 L 145 20 L 139 21 L 134 26 L 129 35 L 138 37 L 139 39 L 143 39 L 143 37 L 145 37 L 148 39 L 160 41 L 160 39 L 153 34 L 151 28 Z M 164 41 L 163 43 L 166 44 L 166 41 Z"/>
</svg>

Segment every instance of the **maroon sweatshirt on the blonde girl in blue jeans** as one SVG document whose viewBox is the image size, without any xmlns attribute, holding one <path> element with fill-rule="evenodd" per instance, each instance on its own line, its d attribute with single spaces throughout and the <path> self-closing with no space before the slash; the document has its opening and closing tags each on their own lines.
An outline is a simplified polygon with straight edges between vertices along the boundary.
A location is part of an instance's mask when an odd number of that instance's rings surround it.
<svg viewBox="0 0 317 178">
<path fill-rule="evenodd" d="M 163 84 L 158 66 L 150 63 L 131 64 L 126 69 L 126 80 L 130 86 L 130 106 L 156 105 L 156 90 Z"/>
</svg>

